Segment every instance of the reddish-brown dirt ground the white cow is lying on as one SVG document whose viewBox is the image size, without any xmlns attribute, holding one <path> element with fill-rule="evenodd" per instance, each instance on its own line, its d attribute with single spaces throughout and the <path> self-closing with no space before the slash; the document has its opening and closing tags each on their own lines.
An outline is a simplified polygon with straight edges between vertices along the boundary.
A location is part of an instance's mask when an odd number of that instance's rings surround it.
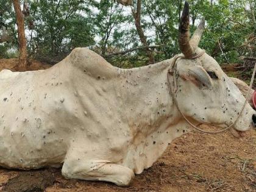
<svg viewBox="0 0 256 192">
<path fill-rule="evenodd" d="M 15 68 L 15 60 L 0 60 Z M 4 64 L 5 63 L 5 64 Z M 7 63 L 7 64 L 6 64 Z M 30 69 L 48 68 L 32 62 Z M 202 126 L 202 129 L 216 130 Z M 154 165 L 137 175 L 128 188 L 107 182 L 66 180 L 61 169 L 0 169 L 1 191 L 256 191 L 256 130 L 235 138 L 227 131 L 214 135 L 196 131 L 172 141 Z"/>
</svg>

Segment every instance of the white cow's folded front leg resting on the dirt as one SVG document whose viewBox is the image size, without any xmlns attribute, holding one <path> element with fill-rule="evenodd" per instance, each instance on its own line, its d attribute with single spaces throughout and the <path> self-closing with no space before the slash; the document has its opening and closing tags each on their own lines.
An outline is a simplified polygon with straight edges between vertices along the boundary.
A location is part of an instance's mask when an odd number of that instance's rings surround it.
<svg viewBox="0 0 256 192">
<path fill-rule="evenodd" d="M 62 175 L 66 179 L 102 180 L 126 187 L 130 185 L 134 172 L 106 160 L 87 160 L 69 155 L 63 164 Z"/>
</svg>

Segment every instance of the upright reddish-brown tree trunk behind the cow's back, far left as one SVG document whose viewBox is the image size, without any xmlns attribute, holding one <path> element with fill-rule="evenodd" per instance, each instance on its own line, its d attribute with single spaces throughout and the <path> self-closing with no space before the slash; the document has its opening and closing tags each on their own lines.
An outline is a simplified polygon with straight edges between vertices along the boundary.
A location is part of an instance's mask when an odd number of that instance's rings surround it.
<svg viewBox="0 0 256 192">
<path fill-rule="evenodd" d="M 19 38 L 19 66 L 20 71 L 25 71 L 27 69 L 27 44 L 25 36 L 25 27 L 24 27 L 24 15 L 21 12 L 20 0 L 12 0 L 13 7 L 16 13 L 16 21 L 18 26 L 18 38 Z"/>
</svg>

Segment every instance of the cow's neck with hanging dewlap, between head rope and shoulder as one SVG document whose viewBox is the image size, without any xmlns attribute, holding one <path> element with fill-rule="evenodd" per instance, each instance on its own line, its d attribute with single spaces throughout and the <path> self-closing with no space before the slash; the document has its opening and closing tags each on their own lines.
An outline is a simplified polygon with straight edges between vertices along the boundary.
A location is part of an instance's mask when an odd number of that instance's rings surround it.
<svg viewBox="0 0 256 192">
<path fill-rule="evenodd" d="M 124 165 L 138 174 L 165 151 L 174 138 L 189 130 L 169 94 L 167 73 L 172 60 L 135 69 L 119 69 L 123 122 L 130 138 Z"/>
</svg>

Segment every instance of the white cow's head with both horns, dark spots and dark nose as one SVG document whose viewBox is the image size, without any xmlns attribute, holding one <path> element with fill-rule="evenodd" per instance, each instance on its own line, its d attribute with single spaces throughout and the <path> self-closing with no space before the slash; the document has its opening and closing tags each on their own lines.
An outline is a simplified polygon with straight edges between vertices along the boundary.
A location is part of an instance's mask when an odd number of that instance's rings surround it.
<svg viewBox="0 0 256 192">
<path fill-rule="evenodd" d="M 189 5 L 185 2 L 179 26 L 179 46 L 185 58 L 178 59 L 174 74 L 169 74 L 169 79 L 176 80 L 174 97 L 180 111 L 197 123 L 227 127 L 238 117 L 245 98 L 213 57 L 206 53 L 200 56 L 203 50 L 197 46 L 204 21 L 190 39 L 189 18 Z M 190 59 L 195 55 L 199 57 Z M 233 128 L 245 131 L 255 124 L 256 112 L 247 103 Z"/>
</svg>

